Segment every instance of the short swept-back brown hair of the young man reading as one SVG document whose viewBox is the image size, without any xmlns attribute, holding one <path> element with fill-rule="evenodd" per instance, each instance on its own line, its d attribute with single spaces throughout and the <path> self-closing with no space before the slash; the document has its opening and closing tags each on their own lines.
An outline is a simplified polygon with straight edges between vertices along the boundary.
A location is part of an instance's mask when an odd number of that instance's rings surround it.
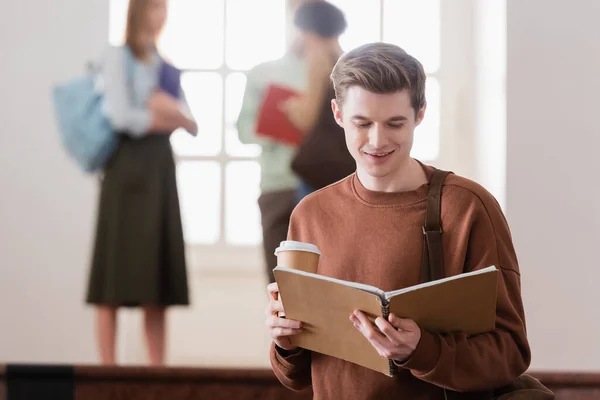
<svg viewBox="0 0 600 400">
<path fill-rule="evenodd" d="M 331 80 L 340 106 L 351 86 L 381 94 L 407 89 L 415 113 L 426 103 L 423 65 L 393 44 L 369 43 L 349 51 L 336 63 Z"/>
</svg>

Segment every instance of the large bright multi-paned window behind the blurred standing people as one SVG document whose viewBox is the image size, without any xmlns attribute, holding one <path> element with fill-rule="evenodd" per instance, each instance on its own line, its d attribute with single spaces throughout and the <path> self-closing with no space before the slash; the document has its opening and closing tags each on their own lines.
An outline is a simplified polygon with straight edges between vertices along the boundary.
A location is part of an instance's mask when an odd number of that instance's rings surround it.
<svg viewBox="0 0 600 400">
<path fill-rule="evenodd" d="M 428 110 L 418 128 L 413 155 L 425 161 L 436 159 L 444 90 L 439 75 L 443 65 L 440 0 L 332 3 L 348 19 L 348 31 L 341 38 L 344 49 L 383 40 L 402 46 L 423 62 L 428 74 Z M 159 45 L 162 53 L 184 70 L 182 84 L 199 125 L 196 138 L 185 132 L 172 137 L 192 263 L 258 266 L 260 149 L 239 142 L 235 121 L 245 72 L 284 54 L 289 20 L 286 1 L 170 0 L 169 4 L 169 22 Z M 110 1 L 113 44 L 122 42 L 126 10 L 127 0 Z M 256 16 L 250 18 L 252 14 Z M 223 261 L 228 255 L 231 260 Z"/>
</svg>

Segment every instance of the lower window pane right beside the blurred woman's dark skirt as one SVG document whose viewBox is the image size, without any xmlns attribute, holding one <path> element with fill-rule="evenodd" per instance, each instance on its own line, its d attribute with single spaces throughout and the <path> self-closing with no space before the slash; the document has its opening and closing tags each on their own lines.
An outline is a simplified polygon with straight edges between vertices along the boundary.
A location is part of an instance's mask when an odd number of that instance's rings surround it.
<svg viewBox="0 0 600 400">
<path fill-rule="evenodd" d="M 221 167 L 215 161 L 184 161 L 177 166 L 177 186 L 185 240 L 213 244 L 219 240 Z"/>
</svg>

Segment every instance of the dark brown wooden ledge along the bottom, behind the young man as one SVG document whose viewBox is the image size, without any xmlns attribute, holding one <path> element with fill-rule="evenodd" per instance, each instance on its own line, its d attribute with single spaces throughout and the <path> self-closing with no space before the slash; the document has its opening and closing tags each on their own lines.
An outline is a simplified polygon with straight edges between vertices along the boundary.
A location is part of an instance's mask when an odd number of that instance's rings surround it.
<svg viewBox="0 0 600 400">
<path fill-rule="evenodd" d="M 600 399 L 600 373 L 532 373 L 557 400 Z M 50 396 L 52 394 L 52 396 Z M 0 400 L 303 400 L 270 370 L 99 366 L 0 367 Z"/>
</svg>

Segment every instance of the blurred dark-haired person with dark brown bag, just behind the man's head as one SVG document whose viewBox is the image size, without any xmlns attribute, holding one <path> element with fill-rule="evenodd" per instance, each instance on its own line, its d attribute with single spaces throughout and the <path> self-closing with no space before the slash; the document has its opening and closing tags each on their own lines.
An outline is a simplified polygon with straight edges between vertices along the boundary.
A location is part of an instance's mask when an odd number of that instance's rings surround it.
<svg viewBox="0 0 600 400">
<path fill-rule="evenodd" d="M 352 174 L 356 164 L 331 111 L 335 91 L 329 76 L 342 54 L 339 37 L 347 26 L 344 14 L 326 1 L 307 2 L 296 11 L 294 24 L 302 38 L 308 85 L 283 108 L 290 122 L 305 134 L 292 161 L 292 170 L 300 178 L 300 200 Z"/>
</svg>

